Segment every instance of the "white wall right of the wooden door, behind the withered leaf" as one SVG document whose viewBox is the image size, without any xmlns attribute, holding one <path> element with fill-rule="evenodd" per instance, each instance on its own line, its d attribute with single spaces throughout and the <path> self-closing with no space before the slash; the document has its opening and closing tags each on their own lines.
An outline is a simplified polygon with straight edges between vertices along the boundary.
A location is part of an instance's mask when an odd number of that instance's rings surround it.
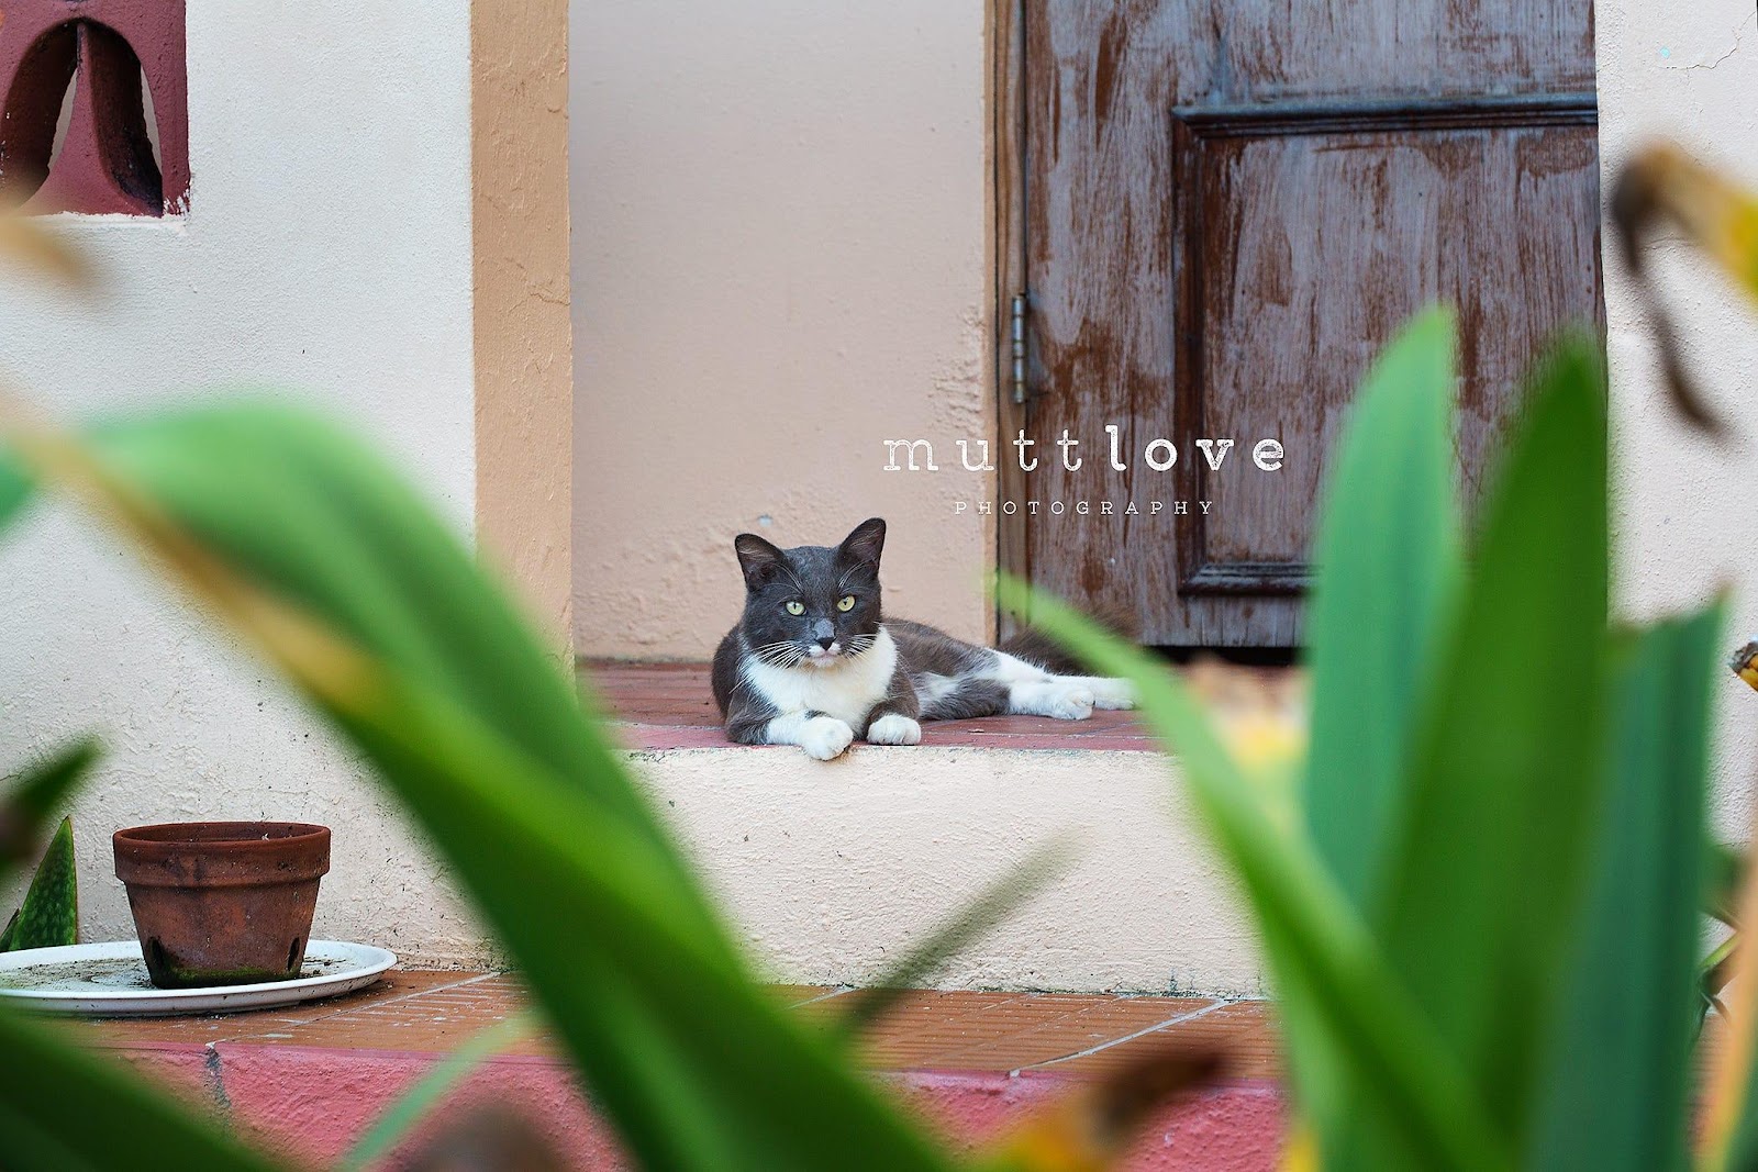
<svg viewBox="0 0 1758 1172">
<path fill-rule="evenodd" d="M 1758 14 L 1749 0 L 1654 5 L 1600 0 L 1600 155 L 1605 190 L 1640 142 L 1665 135 L 1758 188 Z M 1607 244 L 1612 237 L 1607 234 Z M 1665 297 L 1686 358 L 1735 420 L 1716 448 L 1661 401 L 1653 336 L 1628 276 L 1605 258 L 1614 415 L 1617 589 L 1631 615 L 1679 610 L 1726 587 L 1728 648 L 1758 633 L 1758 311 L 1682 244 L 1661 250 Z M 1758 782 L 1758 694 L 1732 675 L 1718 685 L 1718 822 L 1744 838 Z"/>
</svg>

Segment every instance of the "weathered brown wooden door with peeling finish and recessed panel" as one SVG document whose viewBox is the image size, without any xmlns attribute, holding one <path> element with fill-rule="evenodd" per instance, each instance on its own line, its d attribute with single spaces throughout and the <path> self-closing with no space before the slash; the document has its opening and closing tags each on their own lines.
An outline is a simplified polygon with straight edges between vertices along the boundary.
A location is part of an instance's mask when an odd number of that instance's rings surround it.
<svg viewBox="0 0 1758 1172">
<path fill-rule="evenodd" d="M 1002 564 L 1137 613 L 1153 645 L 1294 647 L 1324 453 L 1399 323 L 1457 306 L 1471 494 L 1528 362 L 1603 316 L 1591 5 L 1023 0 L 1018 19 L 1027 362 L 1000 497 L 1039 511 L 999 517 Z M 1202 438 L 1236 441 L 1220 471 Z M 1252 460 L 1262 439 L 1280 471 Z"/>
</svg>

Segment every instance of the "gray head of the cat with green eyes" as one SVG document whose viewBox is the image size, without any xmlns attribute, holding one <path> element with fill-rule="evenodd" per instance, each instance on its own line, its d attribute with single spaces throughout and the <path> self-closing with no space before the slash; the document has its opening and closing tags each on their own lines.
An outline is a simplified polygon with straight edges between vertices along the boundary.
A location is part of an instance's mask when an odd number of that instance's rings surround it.
<svg viewBox="0 0 1758 1172">
<path fill-rule="evenodd" d="M 782 668 L 833 668 L 879 636 L 879 553 L 884 522 L 863 520 L 839 546 L 781 550 L 742 532 L 733 539 L 745 573 L 745 633 L 754 655 Z"/>
</svg>

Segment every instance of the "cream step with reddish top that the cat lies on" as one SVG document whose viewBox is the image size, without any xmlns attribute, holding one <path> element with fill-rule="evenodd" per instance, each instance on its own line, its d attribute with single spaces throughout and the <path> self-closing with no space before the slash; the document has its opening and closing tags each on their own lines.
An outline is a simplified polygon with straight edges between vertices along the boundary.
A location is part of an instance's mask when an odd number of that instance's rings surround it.
<svg viewBox="0 0 1758 1172">
<path fill-rule="evenodd" d="M 585 664 L 629 761 L 775 980 L 868 984 L 1039 847 L 1071 863 L 925 984 L 1259 996 L 1250 919 L 1125 712 L 926 724 L 837 761 L 730 745 L 703 664 Z"/>
</svg>

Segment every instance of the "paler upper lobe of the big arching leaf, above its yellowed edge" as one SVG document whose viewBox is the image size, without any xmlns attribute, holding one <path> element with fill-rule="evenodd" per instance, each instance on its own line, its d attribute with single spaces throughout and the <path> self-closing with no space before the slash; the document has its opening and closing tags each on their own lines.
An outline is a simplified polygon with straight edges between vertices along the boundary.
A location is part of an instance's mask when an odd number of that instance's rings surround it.
<svg viewBox="0 0 1758 1172">
<path fill-rule="evenodd" d="M 373 452 L 271 399 L 114 420 L 90 443 L 105 469 L 253 585 L 478 713 L 561 787 L 603 798 L 633 833 L 665 840 L 582 720 L 573 678 Z"/>
</svg>

